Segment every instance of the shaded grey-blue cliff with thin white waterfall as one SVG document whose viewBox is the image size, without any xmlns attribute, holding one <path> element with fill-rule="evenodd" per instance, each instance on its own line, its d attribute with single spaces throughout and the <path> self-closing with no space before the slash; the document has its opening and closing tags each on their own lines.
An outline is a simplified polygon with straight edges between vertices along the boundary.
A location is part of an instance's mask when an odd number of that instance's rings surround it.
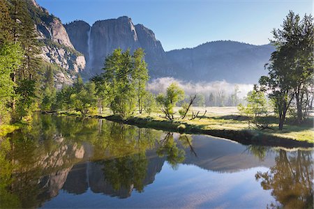
<svg viewBox="0 0 314 209">
<path fill-rule="evenodd" d="M 143 25 L 133 24 L 128 17 L 101 20 L 89 26 L 86 22 L 75 21 L 66 24 L 66 30 L 75 49 L 87 58 L 90 75 L 101 72 L 105 57 L 114 49 L 122 50 L 142 47 L 146 53 L 149 70 L 158 71 L 156 65 L 165 59 L 165 52 L 153 31 Z"/>
</svg>

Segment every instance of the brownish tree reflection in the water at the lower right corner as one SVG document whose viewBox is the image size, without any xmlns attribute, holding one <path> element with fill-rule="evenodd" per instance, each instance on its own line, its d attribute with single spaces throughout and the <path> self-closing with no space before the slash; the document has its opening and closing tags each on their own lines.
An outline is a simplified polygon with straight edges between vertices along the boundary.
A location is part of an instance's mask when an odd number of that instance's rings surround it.
<svg viewBox="0 0 314 209">
<path fill-rule="evenodd" d="M 284 208 L 313 208 L 313 159 L 310 151 L 288 153 L 279 150 L 276 165 L 267 172 L 257 172 L 263 189 Z M 276 207 L 271 203 L 269 207 Z"/>
</svg>

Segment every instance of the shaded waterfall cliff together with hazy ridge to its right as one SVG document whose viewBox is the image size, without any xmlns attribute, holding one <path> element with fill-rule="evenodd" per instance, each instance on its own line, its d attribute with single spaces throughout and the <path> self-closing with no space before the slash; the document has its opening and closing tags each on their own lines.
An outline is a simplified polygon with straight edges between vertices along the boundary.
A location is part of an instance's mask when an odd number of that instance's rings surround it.
<svg viewBox="0 0 314 209">
<path fill-rule="evenodd" d="M 65 25 L 75 49 L 87 58 L 89 76 L 101 72 L 105 57 L 114 49 L 146 53 L 149 75 L 175 77 L 185 81 L 232 83 L 257 82 L 264 75 L 274 47 L 249 45 L 235 41 L 207 42 L 195 48 L 165 52 L 155 34 L 142 24 L 134 25 L 129 17 L 101 20 L 89 26 L 82 20 Z"/>
</svg>

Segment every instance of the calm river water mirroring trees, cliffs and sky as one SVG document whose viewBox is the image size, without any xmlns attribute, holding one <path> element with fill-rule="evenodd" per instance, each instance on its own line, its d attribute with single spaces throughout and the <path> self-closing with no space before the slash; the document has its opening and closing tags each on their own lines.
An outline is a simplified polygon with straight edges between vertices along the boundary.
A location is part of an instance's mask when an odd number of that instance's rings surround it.
<svg viewBox="0 0 314 209">
<path fill-rule="evenodd" d="M 1 208 L 313 208 L 313 150 L 41 114 L 8 142 Z"/>
</svg>

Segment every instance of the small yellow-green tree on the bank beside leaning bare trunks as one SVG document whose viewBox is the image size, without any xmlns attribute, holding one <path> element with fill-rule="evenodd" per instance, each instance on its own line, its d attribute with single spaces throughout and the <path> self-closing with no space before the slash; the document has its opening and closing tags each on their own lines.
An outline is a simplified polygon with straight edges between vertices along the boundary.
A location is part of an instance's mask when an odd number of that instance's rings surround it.
<svg viewBox="0 0 314 209">
<path fill-rule="evenodd" d="M 159 94 L 156 98 L 158 104 L 161 105 L 160 110 L 163 111 L 166 118 L 170 121 L 174 119 L 173 107 L 176 106 L 177 102 L 184 99 L 184 91 L 179 88 L 178 84 L 172 83 L 168 86 L 166 94 Z"/>
</svg>

